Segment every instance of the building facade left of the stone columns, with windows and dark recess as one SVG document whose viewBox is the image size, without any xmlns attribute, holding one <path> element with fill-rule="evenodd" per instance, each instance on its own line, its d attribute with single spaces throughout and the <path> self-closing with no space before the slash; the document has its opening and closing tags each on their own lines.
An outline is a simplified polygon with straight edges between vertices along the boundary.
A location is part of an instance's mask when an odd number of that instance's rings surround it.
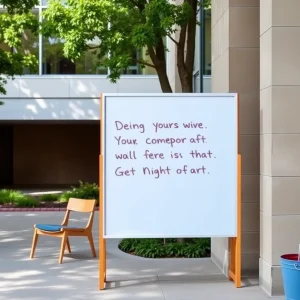
<svg viewBox="0 0 300 300">
<path fill-rule="evenodd" d="M 46 8 L 47 0 L 40 0 L 34 9 L 40 21 Z M 208 22 L 206 31 L 210 39 Z M 200 91 L 199 36 L 198 31 L 195 91 Z M 113 84 L 107 78 L 110 71 L 95 67 L 95 56 L 89 51 L 74 63 L 66 59 L 63 42 L 55 37 L 35 37 L 30 32 L 22 38 L 22 50 L 34 54 L 39 64 L 34 72 L 24 70 L 24 76 L 9 80 L 7 94 L 0 95 L 4 102 L 0 109 L 0 187 L 98 182 L 100 94 L 161 92 L 154 69 L 130 66 Z M 168 46 L 171 48 L 172 44 Z M 5 45 L 0 47 L 5 49 Z M 206 53 L 209 69 L 208 48 Z M 133 53 L 134 57 L 147 60 L 145 55 L 145 51 Z M 173 89 L 179 91 L 174 55 L 172 51 L 166 55 Z M 207 71 L 204 79 L 207 92 L 209 75 Z"/>
</svg>

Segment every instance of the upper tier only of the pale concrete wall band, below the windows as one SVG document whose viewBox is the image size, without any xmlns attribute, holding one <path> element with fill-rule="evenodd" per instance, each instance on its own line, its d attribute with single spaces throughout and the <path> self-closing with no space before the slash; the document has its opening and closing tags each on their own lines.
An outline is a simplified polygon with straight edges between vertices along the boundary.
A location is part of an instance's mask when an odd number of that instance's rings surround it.
<svg viewBox="0 0 300 300">
<path fill-rule="evenodd" d="M 21 76 L 5 85 L 1 98 L 96 98 L 101 93 L 160 93 L 157 76 L 126 76 L 111 83 L 105 76 Z"/>
</svg>

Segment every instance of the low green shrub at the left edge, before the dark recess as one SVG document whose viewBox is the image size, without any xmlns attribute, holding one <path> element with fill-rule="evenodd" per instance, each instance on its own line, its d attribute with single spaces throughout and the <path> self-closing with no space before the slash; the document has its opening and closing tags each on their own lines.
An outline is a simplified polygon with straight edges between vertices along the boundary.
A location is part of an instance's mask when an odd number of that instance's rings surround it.
<svg viewBox="0 0 300 300">
<path fill-rule="evenodd" d="M 20 191 L 0 190 L 0 204 L 14 204 L 18 207 L 35 207 L 38 201 Z"/>
</svg>

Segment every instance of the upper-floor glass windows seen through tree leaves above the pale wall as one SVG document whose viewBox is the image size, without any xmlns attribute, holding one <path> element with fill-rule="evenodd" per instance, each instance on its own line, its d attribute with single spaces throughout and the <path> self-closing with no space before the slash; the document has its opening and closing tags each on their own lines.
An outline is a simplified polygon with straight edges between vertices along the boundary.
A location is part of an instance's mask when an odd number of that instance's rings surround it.
<svg viewBox="0 0 300 300">
<path fill-rule="evenodd" d="M 48 0 L 40 0 L 33 13 L 37 19 L 42 21 L 42 11 L 48 5 Z M 8 49 L 11 51 L 22 51 L 36 56 L 39 66 L 34 71 L 24 70 L 24 74 L 36 75 L 108 75 L 109 70 L 104 66 L 99 66 L 97 49 L 87 50 L 80 59 L 71 61 L 63 55 L 64 41 L 55 37 L 46 38 L 41 35 L 36 36 L 30 31 L 24 32 L 22 36 L 22 47 L 19 49 Z M 91 41 L 94 43 L 95 41 Z M 96 41 L 97 42 L 97 41 Z M 5 45 L 0 45 L 3 49 Z M 5 48 L 6 49 L 6 48 Z M 7 49 L 6 49 L 7 50 Z M 152 67 L 141 67 L 139 60 L 151 63 L 151 59 L 146 49 L 133 51 L 132 65 L 127 67 L 122 75 L 156 75 L 156 70 Z"/>
</svg>

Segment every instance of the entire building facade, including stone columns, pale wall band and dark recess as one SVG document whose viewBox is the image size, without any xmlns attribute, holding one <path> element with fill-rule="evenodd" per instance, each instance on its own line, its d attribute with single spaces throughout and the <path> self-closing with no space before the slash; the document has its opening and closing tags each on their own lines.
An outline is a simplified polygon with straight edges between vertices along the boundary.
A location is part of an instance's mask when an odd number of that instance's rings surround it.
<svg viewBox="0 0 300 300">
<path fill-rule="evenodd" d="M 41 0 L 37 17 L 46 8 Z M 297 252 L 300 125 L 300 2 L 212 0 L 196 33 L 195 92 L 237 92 L 242 154 L 242 271 L 259 275 L 269 295 L 283 293 L 280 255 Z M 35 74 L 10 80 L 0 108 L 0 186 L 98 181 L 100 93 L 161 92 L 138 65 L 113 84 L 89 53 L 71 63 L 62 42 L 24 38 L 36 53 Z M 175 45 L 168 74 L 180 92 Z M 143 52 L 135 55 L 144 55 Z M 227 273 L 227 238 L 212 239 L 212 259 Z"/>
</svg>

